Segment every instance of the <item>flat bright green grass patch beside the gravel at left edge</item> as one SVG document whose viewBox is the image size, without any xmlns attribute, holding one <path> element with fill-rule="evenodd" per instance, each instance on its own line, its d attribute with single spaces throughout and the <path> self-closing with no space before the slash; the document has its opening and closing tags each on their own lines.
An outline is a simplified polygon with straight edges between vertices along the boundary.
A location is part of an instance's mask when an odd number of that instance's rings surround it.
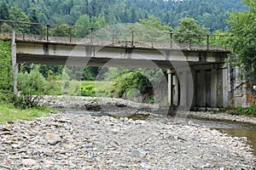
<svg viewBox="0 0 256 170">
<path fill-rule="evenodd" d="M 26 110 L 16 109 L 14 105 L 0 103 L 0 123 L 18 120 L 32 120 L 40 116 L 48 116 L 50 111 L 46 107 L 38 107 Z"/>
</svg>

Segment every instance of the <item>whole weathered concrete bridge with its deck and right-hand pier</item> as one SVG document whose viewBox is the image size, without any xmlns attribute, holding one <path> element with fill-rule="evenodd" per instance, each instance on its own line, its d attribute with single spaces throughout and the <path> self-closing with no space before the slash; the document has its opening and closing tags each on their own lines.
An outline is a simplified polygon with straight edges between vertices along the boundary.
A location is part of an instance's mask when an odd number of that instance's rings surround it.
<svg viewBox="0 0 256 170">
<path fill-rule="evenodd" d="M 14 67 L 20 63 L 167 68 L 172 105 L 186 108 L 229 105 L 229 50 L 209 45 L 140 42 L 94 37 L 12 34 Z M 110 62 L 111 61 L 111 62 Z M 15 70 L 15 72 L 17 69 Z M 16 82 L 15 82 L 16 86 Z M 17 93 L 17 89 L 15 89 Z"/>
</svg>

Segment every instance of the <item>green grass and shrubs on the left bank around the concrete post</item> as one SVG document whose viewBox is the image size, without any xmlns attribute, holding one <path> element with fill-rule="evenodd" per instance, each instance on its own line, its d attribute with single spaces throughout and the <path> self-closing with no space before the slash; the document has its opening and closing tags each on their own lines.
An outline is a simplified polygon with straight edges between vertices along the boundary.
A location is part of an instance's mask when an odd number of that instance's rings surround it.
<svg viewBox="0 0 256 170">
<path fill-rule="evenodd" d="M 22 86 L 26 86 L 24 88 L 25 91 L 22 92 L 22 97 L 16 98 L 13 94 L 13 76 L 12 76 L 12 65 L 11 65 L 11 57 L 10 57 L 10 42 L 0 41 L 0 123 L 9 122 L 15 120 L 31 120 L 38 116 L 47 116 L 49 110 L 44 106 L 33 107 L 30 109 L 23 110 L 28 108 L 28 106 L 32 107 L 35 105 L 26 105 L 26 102 L 29 99 L 28 86 L 32 85 L 32 76 L 23 75 L 21 77 L 22 81 L 20 84 Z M 33 75 L 38 75 L 36 71 L 34 71 Z M 28 77 L 30 79 L 28 79 Z M 36 78 L 36 77 L 34 77 Z M 42 77 L 41 77 L 42 78 Z M 41 83 L 41 80 L 38 80 L 38 83 Z M 32 82 L 31 82 L 32 81 Z M 36 89 L 35 83 L 33 84 L 33 88 L 30 88 L 31 92 Z M 27 91 L 28 90 L 28 91 Z M 31 97 L 31 96 L 30 96 Z M 32 98 L 31 98 L 32 99 Z M 33 99 L 32 99 L 33 100 Z M 25 102 L 26 101 L 26 102 Z M 31 103 L 31 102 L 30 102 Z M 32 102 L 33 103 L 33 102 Z M 16 107 L 15 107 L 16 106 Z"/>
</svg>

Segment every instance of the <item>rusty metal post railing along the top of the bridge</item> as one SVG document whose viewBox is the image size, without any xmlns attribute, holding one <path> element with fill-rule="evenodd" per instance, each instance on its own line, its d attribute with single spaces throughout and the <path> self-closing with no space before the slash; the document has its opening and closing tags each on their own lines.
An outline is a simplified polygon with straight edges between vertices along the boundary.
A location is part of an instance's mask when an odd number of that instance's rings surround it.
<svg viewBox="0 0 256 170">
<path fill-rule="evenodd" d="M 74 42 L 99 46 L 178 48 L 200 50 L 224 50 L 220 42 L 224 35 L 188 34 L 159 31 L 147 26 L 123 25 L 107 28 L 49 25 L 12 20 L 0 20 L 0 38 L 16 38 L 24 41 Z"/>
</svg>

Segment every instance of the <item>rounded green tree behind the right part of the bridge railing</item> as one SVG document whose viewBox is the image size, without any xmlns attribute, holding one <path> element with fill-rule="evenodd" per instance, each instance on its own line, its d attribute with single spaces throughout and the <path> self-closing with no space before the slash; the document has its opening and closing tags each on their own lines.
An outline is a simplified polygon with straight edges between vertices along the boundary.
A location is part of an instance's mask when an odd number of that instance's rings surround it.
<svg viewBox="0 0 256 170">
<path fill-rule="evenodd" d="M 180 33 L 174 37 L 176 42 L 189 43 L 189 40 L 191 40 L 192 43 L 199 44 L 207 40 L 206 35 L 209 33 L 209 29 L 199 26 L 193 18 L 183 18 L 175 32 Z"/>
</svg>

